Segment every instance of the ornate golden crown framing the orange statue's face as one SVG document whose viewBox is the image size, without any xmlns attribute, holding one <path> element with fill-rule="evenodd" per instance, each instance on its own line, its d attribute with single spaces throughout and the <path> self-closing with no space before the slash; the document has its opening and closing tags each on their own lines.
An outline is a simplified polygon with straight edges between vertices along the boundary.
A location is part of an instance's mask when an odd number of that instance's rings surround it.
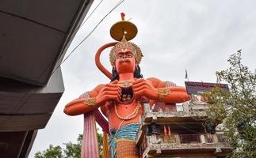
<svg viewBox="0 0 256 158">
<path fill-rule="evenodd" d="M 123 36 L 123 39 L 120 42 L 118 42 L 110 51 L 109 60 L 110 60 L 111 66 L 113 67 L 115 66 L 117 52 L 122 49 L 130 49 L 136 59 L 136 63 L 139 64 L 139 62 L 141 61 L 141 58 L 143 57 L 140 48 L 135 43 L 128 42 L 125 39 L 125 36 Z"/>
</svg>

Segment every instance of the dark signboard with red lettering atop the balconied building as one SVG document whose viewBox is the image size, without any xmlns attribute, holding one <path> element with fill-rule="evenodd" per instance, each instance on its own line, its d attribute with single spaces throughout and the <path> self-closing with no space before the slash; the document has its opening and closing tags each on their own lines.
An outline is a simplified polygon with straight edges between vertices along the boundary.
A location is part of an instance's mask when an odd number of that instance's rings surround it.
<svg viewBox="0 0 256 158">
<path fill-rule="evenodd" d="M 185 81 L 185 88 L 187 89 L 188 94 L 197 95 L 216 87 L 223 88 L 224 90 L 228 91 L 227 84 Z"/>
</svg>

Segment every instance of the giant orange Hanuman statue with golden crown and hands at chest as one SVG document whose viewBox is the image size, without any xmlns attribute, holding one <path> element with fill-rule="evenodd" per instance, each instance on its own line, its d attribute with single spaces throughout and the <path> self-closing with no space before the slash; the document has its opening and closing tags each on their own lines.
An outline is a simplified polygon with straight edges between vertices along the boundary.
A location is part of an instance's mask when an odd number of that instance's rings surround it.
<svg viewBox="0 0 256 158">
<path fill-rule="evenodd" d="M 124 16 L 122 19 L 124 22 Z M 132 36 L 135 36 L 134 34 L 136 33 L 133 32 Z M 159 101 L 174 104 L 189 100 L 183 87 L 168 81 L 160 81 L 155 77 L 143 78 L 139 68 L 143 55 L 136 44 L 127 41 L 133 38 L 129 35 L 131 33 L 129 34 L 128 31 L 124 32 L 122 36 L 116 38 L 120 42 L 105 46 L 114 45 L 109 55 L 113 66 L 112 74 L 106 72 L 101 64 L 99 65 L 99 56 L 96 59 L 101 71 L 112 77 L 110 83 L 98 85 L 87 92 L 86 97 L 67 103 L 64 109 L 67 115 L 81 115 L 97 108 L 101 109 L 109 120 L 109 157 L 139 157 L 136 133 L 139 129 L 139 117 L 144 111 L 143 103 L 152 105 Z"/>
</svg>

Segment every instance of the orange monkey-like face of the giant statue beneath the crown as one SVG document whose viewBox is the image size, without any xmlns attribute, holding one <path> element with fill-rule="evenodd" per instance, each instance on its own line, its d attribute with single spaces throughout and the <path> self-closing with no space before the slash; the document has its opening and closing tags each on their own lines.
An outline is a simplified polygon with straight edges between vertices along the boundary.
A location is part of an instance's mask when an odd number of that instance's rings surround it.
<svg viewBox="0 0 256 158">
<path fill-rule="evenodd" d="M 115 66 L 117 73 L 134 73 L 136 60 L 132 51 L 130 49 L 117 51 Z"/>
</svg>

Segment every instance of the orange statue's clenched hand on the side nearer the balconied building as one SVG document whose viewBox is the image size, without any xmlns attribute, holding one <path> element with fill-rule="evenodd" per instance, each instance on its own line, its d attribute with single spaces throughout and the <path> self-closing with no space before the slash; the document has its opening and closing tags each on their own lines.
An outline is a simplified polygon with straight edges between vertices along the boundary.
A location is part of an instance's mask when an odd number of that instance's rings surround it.
<svg viewBox="0 0 256 158">
<path fill-rule="evenodd" d="M 146 96 L 150 100 L 158 99 L 157 89 L 152 85 L 151 81 L 143 78 L 137 79 L 132 82 L 132 88 L 136 97 Z"/>
</svg>

